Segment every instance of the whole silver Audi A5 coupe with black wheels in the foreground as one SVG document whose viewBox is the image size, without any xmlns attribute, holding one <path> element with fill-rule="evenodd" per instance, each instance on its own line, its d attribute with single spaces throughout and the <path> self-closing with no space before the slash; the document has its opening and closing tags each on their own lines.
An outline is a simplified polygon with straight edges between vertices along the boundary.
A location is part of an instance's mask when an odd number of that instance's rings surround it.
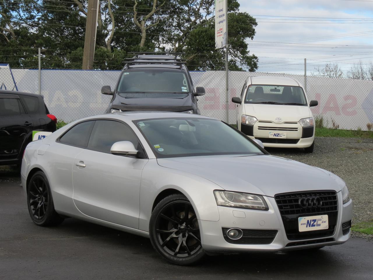
<svg viewBox="0 0 373 280">
<path fill-rule="evenodd" d="M 260 144 L 200 115 L 92 116 L 29 143 L 22 186 L 35 224 L 74 217 L 149 237 L 174 264 L 346 242 L 345 182 Z"/>
</svg>

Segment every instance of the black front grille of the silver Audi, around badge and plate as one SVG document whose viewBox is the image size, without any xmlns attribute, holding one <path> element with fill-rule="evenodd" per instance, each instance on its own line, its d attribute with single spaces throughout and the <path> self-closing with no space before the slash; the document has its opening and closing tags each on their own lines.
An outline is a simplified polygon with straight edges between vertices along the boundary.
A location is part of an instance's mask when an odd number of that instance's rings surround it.
<svg viewBox="0 0 373 280">
<path fill-rule="evenodd" d="M 302 208 L 299 205 L 301 197 L 320 197 L 320 207 Z M 335 191 L 310 191 L 281 193 L 275 195 L 280 210 L 286 236 L 289 240 L 311 239 L 331 236 L 335 232 L 338 218 L 338 198 Z M 299 231 L 298 218 L 316 215 L 328 215 L 329 228 L 326 230 Z"/>
</svg>

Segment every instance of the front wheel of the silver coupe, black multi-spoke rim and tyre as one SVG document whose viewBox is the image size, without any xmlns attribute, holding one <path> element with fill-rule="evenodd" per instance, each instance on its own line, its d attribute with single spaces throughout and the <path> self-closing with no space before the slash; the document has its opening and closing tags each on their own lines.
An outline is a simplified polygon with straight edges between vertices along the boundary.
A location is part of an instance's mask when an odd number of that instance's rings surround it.
<svg viewBox="0 0 373 280">
<path fill-rule="evenodd" d="M 191 265 L 205 256 L 197 216 L 184 195 L 169 195 L 157 204 L 149 234 L 154 249 L 172 264 Z"/>
</svg>

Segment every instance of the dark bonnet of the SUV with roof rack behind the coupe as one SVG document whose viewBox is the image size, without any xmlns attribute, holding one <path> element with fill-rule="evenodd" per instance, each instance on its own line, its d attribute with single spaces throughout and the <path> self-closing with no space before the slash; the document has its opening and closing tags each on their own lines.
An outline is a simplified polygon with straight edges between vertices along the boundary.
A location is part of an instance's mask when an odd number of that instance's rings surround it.
<svg viewBox="0 0 373 280">
<path fill-rule="evenodd" d="M 122 111 L 174 111 L 182 112 L 192 109 L 192 98 L 185 94 L 138 94 L 137 98 L 122 97 L 119 94 L 112 108 Z"/>
</svg>

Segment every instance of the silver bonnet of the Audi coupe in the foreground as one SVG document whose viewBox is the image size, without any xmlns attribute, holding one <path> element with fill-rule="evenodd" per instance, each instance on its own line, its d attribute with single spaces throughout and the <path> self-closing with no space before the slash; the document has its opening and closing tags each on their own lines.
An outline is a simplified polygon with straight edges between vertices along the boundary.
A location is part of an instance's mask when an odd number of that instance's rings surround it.
<svg viewBox="0 0 373 280">
<path fill-rule="evenodd" d="M 275 196 L 278 193 L 335 190 L 343 181 L 323 169 L 270 155 L 194 156 L 157 159 L 162 167 L 206 178 L 225 190 Z"/>
</svg>

